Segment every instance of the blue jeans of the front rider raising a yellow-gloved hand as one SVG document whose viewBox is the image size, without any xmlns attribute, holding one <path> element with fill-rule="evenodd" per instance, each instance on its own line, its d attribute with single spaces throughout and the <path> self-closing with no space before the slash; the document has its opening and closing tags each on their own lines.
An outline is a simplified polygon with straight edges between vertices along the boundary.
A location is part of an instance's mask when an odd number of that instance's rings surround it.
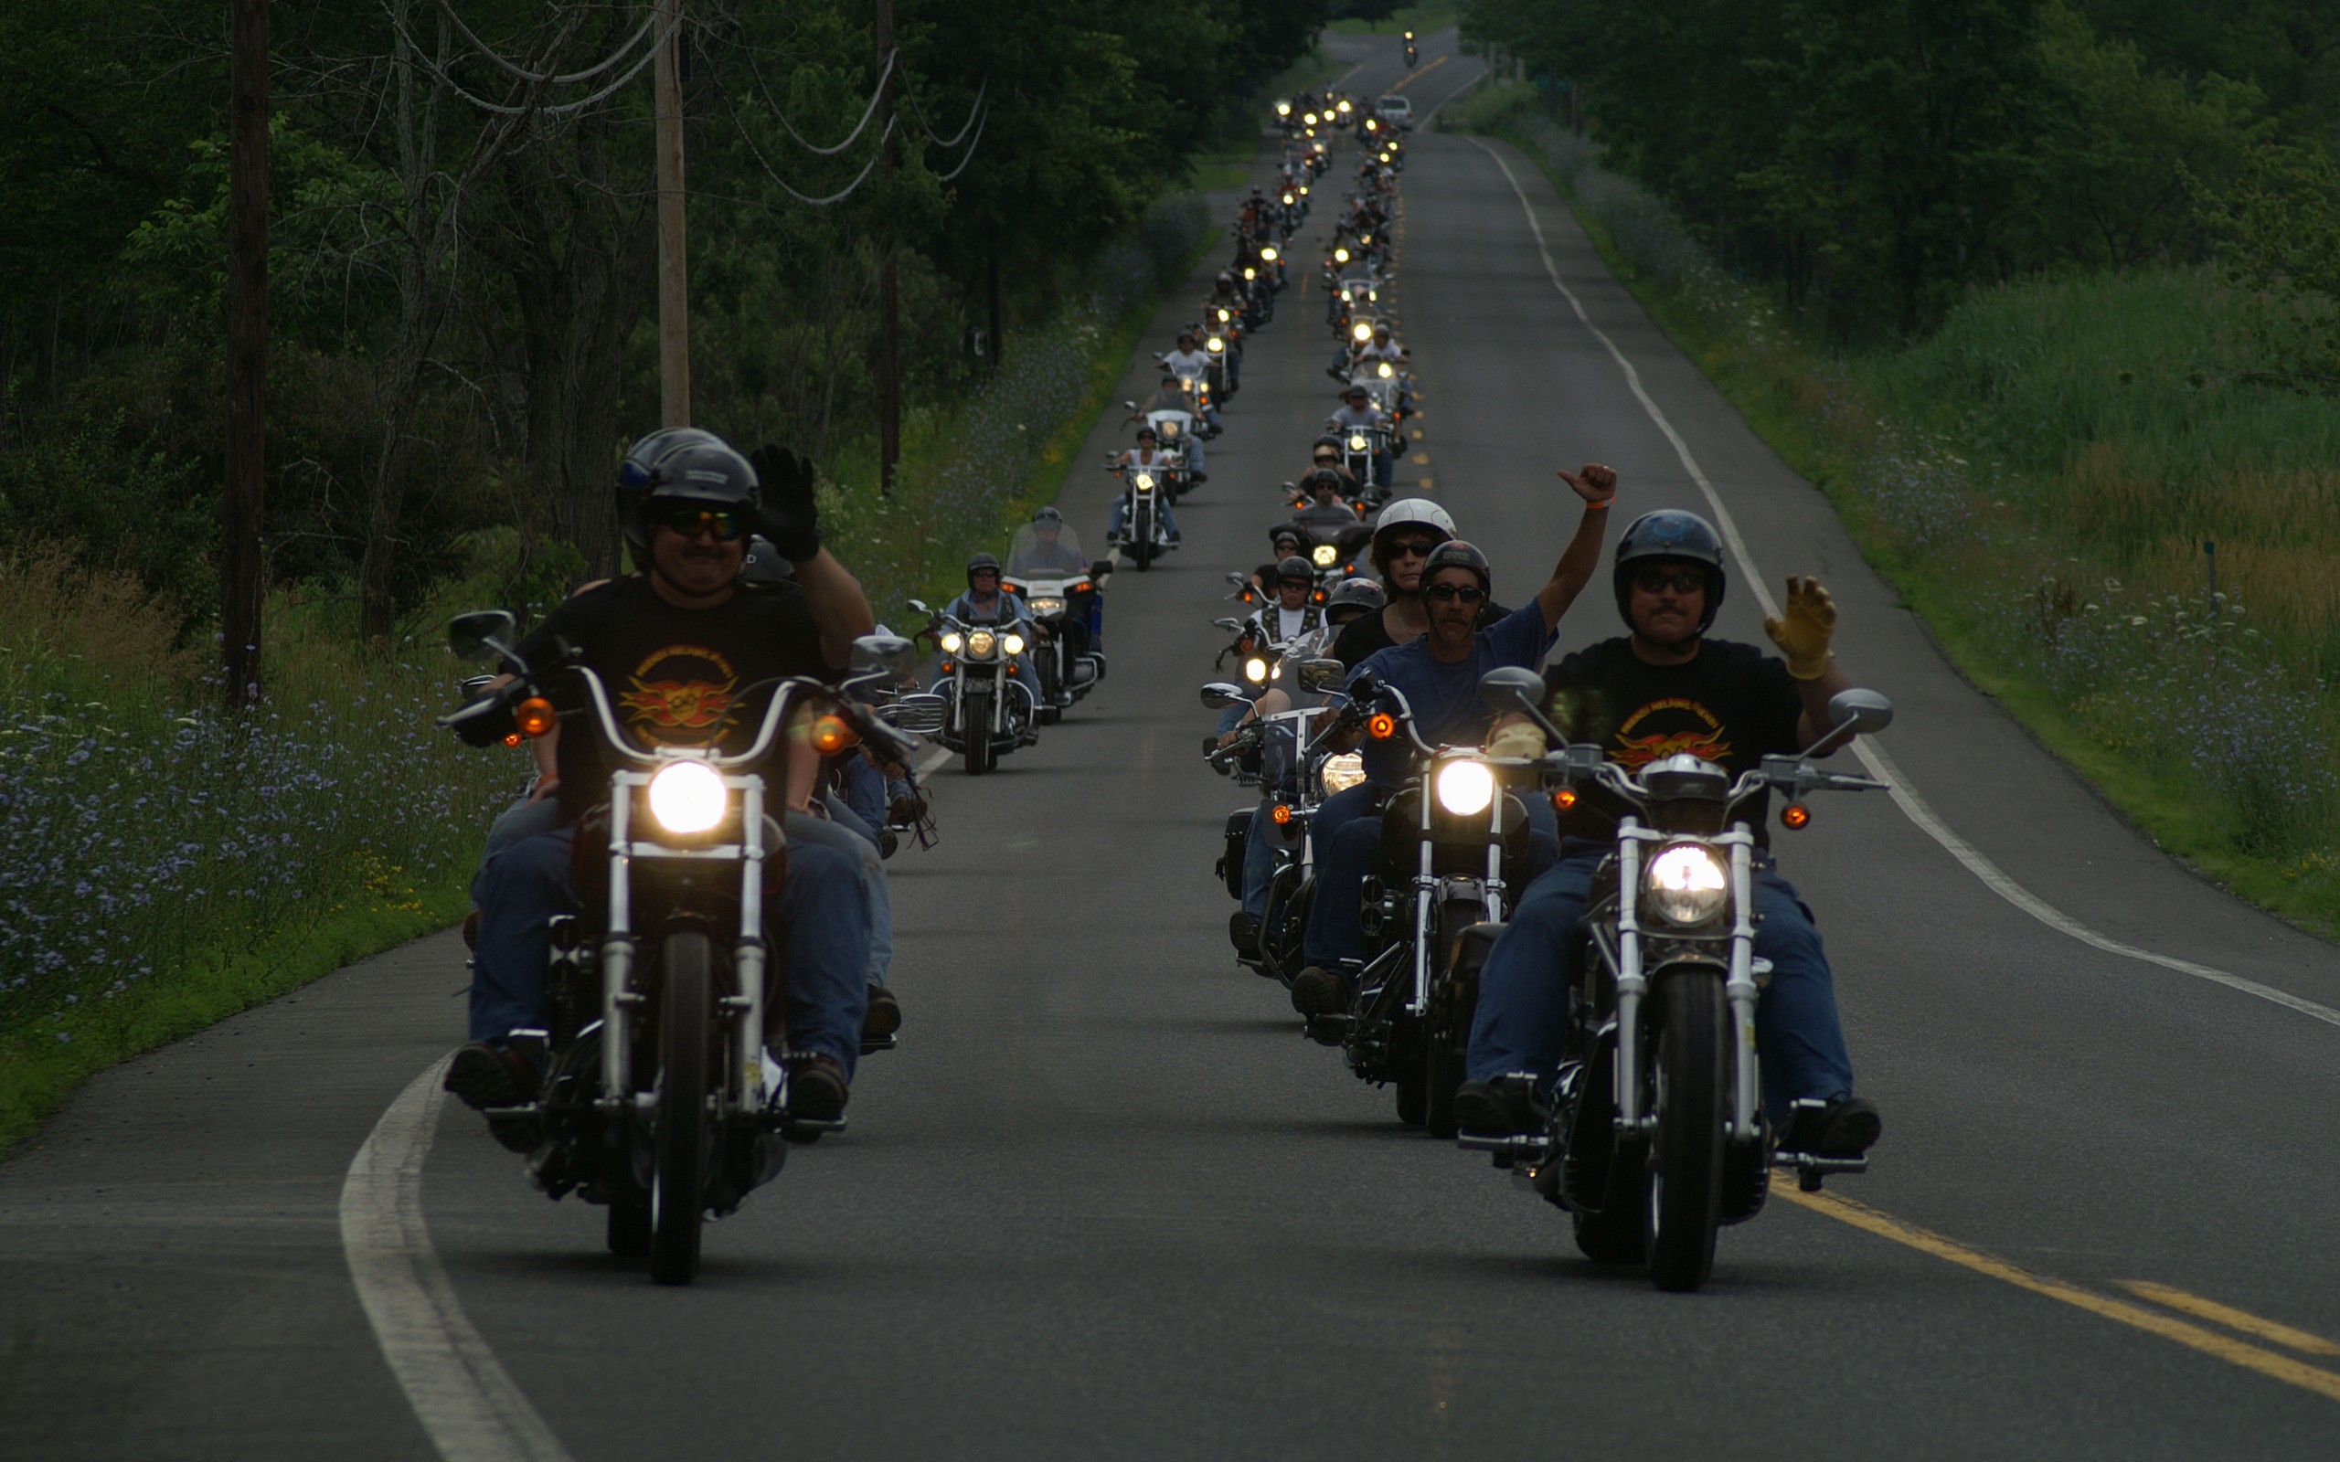
<svg viewBox="0 0 2340 1462">
<path fill-rule="evenodd" d="M 1572 837 L 1563 861 L 1528 887 L 1488 952 L 1470 1029 L 1465 1071 L 1472 1081 L 1533 1071 L 1549 1083 L 1558 1071 L 1568 989 L 1584 950 L 1577 922 L 1605 854 L 1605 844 Z M 1837 987 L 1811 910 L 1795 884 L 1762 866 L 1755 870 L 1755 957 L 1771 961 L 1755 1001 L 1762 1099 L 1781 1123 L 1799 1097 L 1849 1097 L 1853 1060 L 1844 1050 Z"/>
</svg>

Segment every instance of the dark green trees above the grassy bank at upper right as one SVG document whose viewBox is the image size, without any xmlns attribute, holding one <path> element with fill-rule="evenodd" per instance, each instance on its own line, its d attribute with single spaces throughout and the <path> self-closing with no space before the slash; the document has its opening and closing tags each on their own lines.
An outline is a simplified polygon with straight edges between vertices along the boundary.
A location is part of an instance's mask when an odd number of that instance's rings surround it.
<svg viewBox="0 0 2340 1462">
<path fill-rule="evenodd" d="M 1580 89 L 1612 168 L 1839 339 L 1977 283 L 2197 262 L 2204 204 L 2282 206 L 2253 180 L 2333 196 L 2303 187 L 2340 143 L 2321 0 L 1472 0 L 1465 33 Z"/>
</svg>

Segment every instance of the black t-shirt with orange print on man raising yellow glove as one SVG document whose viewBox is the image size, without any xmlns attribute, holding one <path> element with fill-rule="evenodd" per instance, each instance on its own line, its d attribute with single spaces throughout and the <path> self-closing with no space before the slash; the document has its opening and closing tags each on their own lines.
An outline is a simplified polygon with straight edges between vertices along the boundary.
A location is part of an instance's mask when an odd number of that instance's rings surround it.
<svg viewBox="0 0 2340 1462">
<path fill-rule="evenodd" d="M 1608 758 L 1638 772 L 1666 756 L 1699 756 L 1732 777 L 1764 756 L 1802 751 L 1804 697 L 1776 655 L 1708 639 L 1689 664 L 1650 664 L 1619 636 L 1544 669 L 1544 713 L 1575 742 L 1601 742 Z M 1764 840 L 1762 807 L 1755 840 Z M 1610 837 L 1598 814 L 1561 819 L 1563 835 Z"/>
</svg>

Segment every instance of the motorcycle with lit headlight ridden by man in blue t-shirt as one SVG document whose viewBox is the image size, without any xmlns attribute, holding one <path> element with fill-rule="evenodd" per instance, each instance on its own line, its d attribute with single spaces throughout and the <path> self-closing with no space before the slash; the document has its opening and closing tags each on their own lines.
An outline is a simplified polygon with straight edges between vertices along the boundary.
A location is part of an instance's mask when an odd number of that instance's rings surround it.
<svg viewBox="0 0 2340 1462">
<path fill-rule="evenodd" d="M 1315 674 L 1341 662 L 1322 664 Z M 1507 875 L 1526 866 L 1528 809 L 1502 786 L 1526 763 L 1477 746 L 1430 746 L 1406 697 L 1371 674 L 1353 676 L 1353 697 L 1397 704 L 1371 713 L 1367 735 L 1411 744 L 1418 774 L 1381 814 L 1383 866 L 1364 877 L 1362 924 L 1383 943 L 1357 971 L 1355 1013 L 1317 1015 L 1310 1034 L 1336 1041 L 1362 1081 L 1395 1085 L 1399 1120 L 1455 1137 L 1453 1099 L 1477 1004 L 1467 933 L 1502 922 Z M 1406 863 L 1411 887 L 1390 882 Z"/>
</svg>

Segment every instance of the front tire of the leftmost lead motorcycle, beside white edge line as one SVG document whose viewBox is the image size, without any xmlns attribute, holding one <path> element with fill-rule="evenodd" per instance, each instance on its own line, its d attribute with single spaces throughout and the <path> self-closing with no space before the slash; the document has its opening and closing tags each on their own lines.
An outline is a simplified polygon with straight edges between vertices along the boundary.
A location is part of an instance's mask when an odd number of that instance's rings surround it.
<svg viewBox="0 0 2340 1462">
<path fill-rule="evenodd" d="M 651 1277 L 690 1284 L 700 1275 L 700 1200 L 707 1188 L 714 952 L 704 933 L 669 933 L 658 957 L 665 971 L 658 999 Z"/>
</svg>

